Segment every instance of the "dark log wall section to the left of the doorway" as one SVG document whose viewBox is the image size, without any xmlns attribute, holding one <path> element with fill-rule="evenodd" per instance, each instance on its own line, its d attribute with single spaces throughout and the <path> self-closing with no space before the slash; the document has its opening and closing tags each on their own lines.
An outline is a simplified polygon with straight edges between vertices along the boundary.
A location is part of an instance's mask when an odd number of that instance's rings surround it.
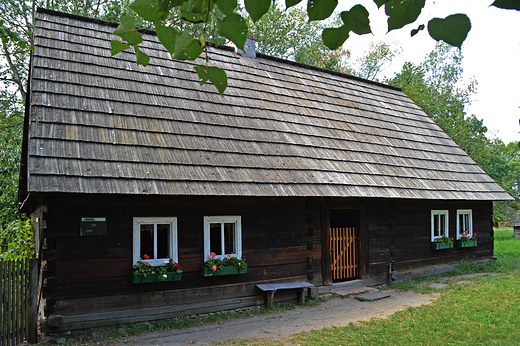
<svg viewBox="0 0 520 346">
<path fill-rule="evenodd" d="M 263 297 L 255 287 L 260 282 L 321 284 L 319 199 L 55 195 L 46 204 L 47 315 L 118 306 L 153 307 L 165 301 L 196 302 L 215 299 L 216 294 L 218 299 Z M 203 216 L 207 215 L 242 216 L 242 252 L 248 264 L 247 274 L 209 278 L 200 275 L 205 260 Z M 81 218 L 100 216 L 107 219 L 108 234 L 81 237 Z M 177 217 L 182 281 L 132 283 L 135 216 Z M 312 256 L 310 263 L 309 256 Z M 215 290 L 217 286 L 226 289 Z M 165 300 L 164 292 L 168 291 L 179 294 L 169 293 Z M 158 297 L 150 292 L 157 292 Z"/>
</svg>

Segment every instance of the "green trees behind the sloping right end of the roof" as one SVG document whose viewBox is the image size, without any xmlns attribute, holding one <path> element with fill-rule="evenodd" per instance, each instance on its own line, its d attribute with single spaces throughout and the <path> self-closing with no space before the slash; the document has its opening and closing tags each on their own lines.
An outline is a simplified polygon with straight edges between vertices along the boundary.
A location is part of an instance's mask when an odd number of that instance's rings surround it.
<svg viewBox="0 0 520 346">
<path fill-rule="evenodd" d="M 512 197 L 495 202 L 493 220 L 508 221 L 520 210 L 520 148 L 488 138 L 488 129 L 475 115 L 467 115 L 477 82 L 460 82 L 463 75 L 460 50 L 438 43 L 422 64 L 407 62 L 387 80 L 403 91 L 432 118 L 475 162 Z"/>
</svg>

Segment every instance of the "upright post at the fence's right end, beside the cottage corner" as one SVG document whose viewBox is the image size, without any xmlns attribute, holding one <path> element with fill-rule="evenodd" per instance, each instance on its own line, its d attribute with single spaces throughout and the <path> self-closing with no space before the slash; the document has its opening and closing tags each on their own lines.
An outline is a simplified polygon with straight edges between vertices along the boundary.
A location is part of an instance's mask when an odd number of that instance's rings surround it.
<svg viewBox="0 0 520 346">
<path fill-rule="evenodd" d="M 39 282 L 40 266 L 38 258 L 29 260 L 29 299 L 27 312 L 27 341 L 30 344 L 38 343 L 38 301 L 39 301 Z"/>
</svg>

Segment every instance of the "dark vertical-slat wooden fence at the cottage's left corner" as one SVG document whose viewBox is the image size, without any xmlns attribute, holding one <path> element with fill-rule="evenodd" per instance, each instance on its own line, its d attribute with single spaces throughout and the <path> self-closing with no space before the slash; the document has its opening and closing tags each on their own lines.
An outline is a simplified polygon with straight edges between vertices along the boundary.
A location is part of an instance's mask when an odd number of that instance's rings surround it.
<svg viewBox="0 0 520 346">
<path fill-rule="evenodd" d="M 37 342 L 38 260 L 0 259 L 0 346 Z"/>
</svg>

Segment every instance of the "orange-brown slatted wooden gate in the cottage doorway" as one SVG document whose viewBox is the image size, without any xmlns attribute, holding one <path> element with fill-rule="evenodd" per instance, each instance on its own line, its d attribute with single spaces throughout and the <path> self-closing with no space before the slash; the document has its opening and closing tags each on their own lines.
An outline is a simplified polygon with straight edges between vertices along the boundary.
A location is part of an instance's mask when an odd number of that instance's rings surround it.
<svg viewBox="0 0 520 346">
<path fill-rule="evenodd" d="M 331 272 L 334 281 L 358 277 L 357 227 L 330 228 Z"/>
</svg>

